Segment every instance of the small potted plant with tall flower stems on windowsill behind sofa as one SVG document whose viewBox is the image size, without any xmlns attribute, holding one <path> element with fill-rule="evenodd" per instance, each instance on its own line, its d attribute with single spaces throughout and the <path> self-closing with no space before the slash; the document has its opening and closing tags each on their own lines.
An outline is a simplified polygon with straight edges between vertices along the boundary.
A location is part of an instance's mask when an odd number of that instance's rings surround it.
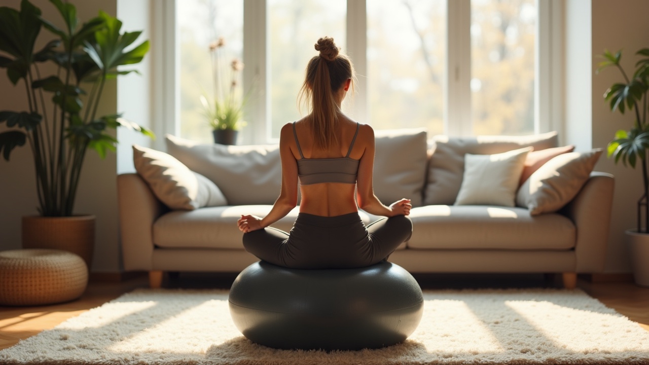
<svg viewBox="0 0 649 365">
<path fill-rule="evenodd" d="M 243 69 L 243 63 L 234 58 L 227 68 L 229 82 L 222 79 L 221 68 L 223 62 L 223 47 L 225 40 L 219 38 L 217 42 L 210 44 L 210 57 L 212 60 L 212 97 L 201 95 L 203 114 L 212 126 L 214 143 L 233 145 L 236 144 L 237 134 L 245 125 L 242 121 L 243 107 L 247 95 L 241 95 L 237 87 L 239 72 Z"/>
</svg>

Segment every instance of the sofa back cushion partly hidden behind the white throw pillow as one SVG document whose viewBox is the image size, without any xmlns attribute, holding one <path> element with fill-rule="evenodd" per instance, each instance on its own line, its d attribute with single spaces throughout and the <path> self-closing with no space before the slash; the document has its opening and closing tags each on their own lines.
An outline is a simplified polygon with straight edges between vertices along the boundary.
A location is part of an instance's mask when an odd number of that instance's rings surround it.
<svg viewBox="0 0 649 365">
<path fill-rule="evenodd" d="M 464 155 L 493 155 L 532 146 L 535 151 L 557 147 L 557 132 L 530 136 L 448 137 L 437 135 L 429 144 L 434 149 L 428 167 L 424 205 L 452 205 L 464 174 Z M 227 195 L 226 195 L 227 196 Z"/>
</svg>

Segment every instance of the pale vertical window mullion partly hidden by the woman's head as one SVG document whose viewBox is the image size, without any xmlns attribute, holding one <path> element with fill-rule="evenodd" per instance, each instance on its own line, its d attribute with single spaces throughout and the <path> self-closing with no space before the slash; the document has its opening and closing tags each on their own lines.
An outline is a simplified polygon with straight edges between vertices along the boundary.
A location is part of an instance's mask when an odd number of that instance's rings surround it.
<svg viewBox="0 0 649 365">
<path fill-rule="evenodd" d="M 354 62 L 356 82 L 351 117 L 367 120 L 367 6 L 365 0 L 347 0 L 347 55 Z"/>
</svg>

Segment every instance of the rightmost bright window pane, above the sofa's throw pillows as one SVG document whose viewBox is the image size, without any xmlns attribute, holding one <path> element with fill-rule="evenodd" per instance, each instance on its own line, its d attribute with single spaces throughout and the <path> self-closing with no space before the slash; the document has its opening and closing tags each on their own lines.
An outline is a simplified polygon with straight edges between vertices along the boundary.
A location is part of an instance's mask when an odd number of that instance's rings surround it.
<svg viewBox="0 0 649 365">
<path fill-rule="evenodd" d="M 471 0 L 474 134 L 534 132 L 534 0 Z"/>
</svg>

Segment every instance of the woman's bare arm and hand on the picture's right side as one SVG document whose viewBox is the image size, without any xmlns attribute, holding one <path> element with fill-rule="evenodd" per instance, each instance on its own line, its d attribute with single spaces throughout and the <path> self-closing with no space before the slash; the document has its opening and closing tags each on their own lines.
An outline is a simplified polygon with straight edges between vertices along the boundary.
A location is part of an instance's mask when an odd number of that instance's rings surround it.
<svg viewBox="0 0 649 365">
<path fill-rule="evenodd" d="M 358 178 L 356 179 L 356 202 L 358 207 L 375 216 L 407 216 L 410 214 L 410 199 L 395 201 L 386 207 L 374 195 L 374 130 L 369 125 L 361 125 L 359 137 L 365 146 L 363 156 L 358 164 Z M 358 142 L 357 142 L 358 143 Z"/>
</svg>

